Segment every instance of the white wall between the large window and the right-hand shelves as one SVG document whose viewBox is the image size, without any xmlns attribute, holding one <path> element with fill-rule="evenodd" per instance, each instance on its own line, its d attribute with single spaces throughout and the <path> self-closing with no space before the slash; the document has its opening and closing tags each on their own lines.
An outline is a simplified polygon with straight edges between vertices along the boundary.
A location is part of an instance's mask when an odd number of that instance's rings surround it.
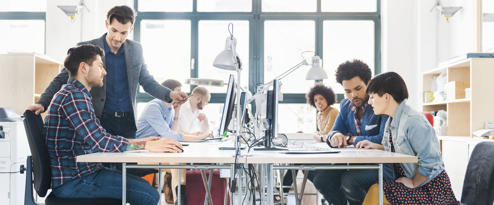
<svg viewBox="0 0 494 205">
<path fill-rule="evenodd" d="M 443 6 L 463 6 L 449 23 L 435 0 L 382 0 L 382 71 L 394 71 L 405 80 L 409 101 L 421 104 L 421 73 L 448 59 L 476 51 L 474 11 L 476 0 L 442 0 Z"/>
</svg>

